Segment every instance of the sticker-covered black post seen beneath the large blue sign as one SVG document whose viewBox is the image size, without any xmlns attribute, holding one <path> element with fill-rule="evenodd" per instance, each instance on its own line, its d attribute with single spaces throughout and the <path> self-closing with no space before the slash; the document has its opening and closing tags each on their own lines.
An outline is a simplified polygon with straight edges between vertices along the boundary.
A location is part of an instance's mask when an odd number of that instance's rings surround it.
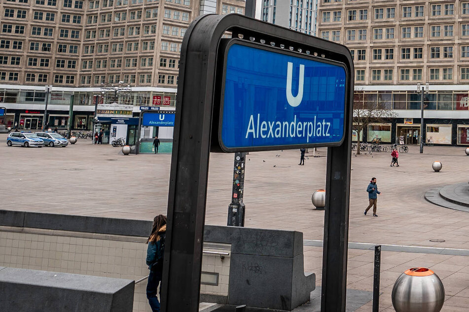
<svg viewBox="0 0 469 312">
<path fill-rule="evenodd" d="M 231 192 L 231 204 L 228 205 L 228 226 L 244 226 L 244 213 L 246 208 L 243 203 L 245 165 L 246 153 L 235 153 L 233 190 Z"/>
</svg>

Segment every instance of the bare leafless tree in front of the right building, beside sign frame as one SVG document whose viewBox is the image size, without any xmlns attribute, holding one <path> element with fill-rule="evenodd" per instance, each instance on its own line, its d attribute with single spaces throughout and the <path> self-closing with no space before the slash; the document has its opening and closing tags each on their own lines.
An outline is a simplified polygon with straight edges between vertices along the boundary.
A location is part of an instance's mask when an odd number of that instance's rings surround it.
<svg viewBox="0 0 469 312">
<path fill-rule="evenodd" d="M 386 118 L 396 117 L 390 102 L 381 100 L 378 94 L 354 94 L 353 126 L 357 130 L 357 155 L 360 154 L 360 134 L 370 123 L 384 122 Z"/>
</svg>

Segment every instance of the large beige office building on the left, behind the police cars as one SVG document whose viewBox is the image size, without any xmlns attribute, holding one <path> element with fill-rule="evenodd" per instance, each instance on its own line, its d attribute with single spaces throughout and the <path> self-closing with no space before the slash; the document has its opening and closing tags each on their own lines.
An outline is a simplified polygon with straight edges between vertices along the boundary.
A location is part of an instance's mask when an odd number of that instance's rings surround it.
<svg viewBox="0 0 469 312">
<path fill-rule="evenodd" d="M 1 0 L 0 124 L 91 129 L 103 84 L 139 106 L 175 105 L 181 42 L 205 13 L 244 14 L 244 0 Z M 45 86 L 51 85 L 46 94 Z M 73 97 L 72 97 L 73 95 Z M 102 104 L 102 100 L 99 100 Z"/>
</svg>

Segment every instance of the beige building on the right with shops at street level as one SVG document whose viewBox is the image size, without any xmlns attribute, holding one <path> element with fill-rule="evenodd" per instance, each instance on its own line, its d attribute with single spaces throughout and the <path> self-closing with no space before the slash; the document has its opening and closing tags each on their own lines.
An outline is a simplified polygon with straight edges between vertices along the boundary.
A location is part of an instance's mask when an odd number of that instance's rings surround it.
<svg viewBox="0 0 469 312">
<path fill-rule="evenodd" d="M 321 0 L 318 36 L 354 58 L 355 100 L 391 108 L 397 118 L 369 125 L 365 141 L 469 144 L 469 1 Z"/>
</svg>

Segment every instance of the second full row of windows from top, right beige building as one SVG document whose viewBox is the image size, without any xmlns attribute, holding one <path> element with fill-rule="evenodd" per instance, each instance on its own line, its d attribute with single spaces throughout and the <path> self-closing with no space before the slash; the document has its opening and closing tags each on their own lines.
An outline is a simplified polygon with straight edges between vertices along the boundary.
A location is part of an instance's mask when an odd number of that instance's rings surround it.
<svg viewBox="0 0 469 312">
<path fill-rule="evenodd" d="M 399 39 L 424 38 L 425 26 L 400 27 Z M 368 29 L 345 30 L 346 41 L 365 41 L 368 39 Z M 371 40 L 395 39 L 395 28 L 373 28 Z M 329 37 L 329 34 L 331 35 Z M 321 37 L 326 40 L 340 41 L 341 30 L 321 31 Z M 454 37 L 454 25 L 429 25 L 430 38 Z M 460 36 L 469 36 L 469 24 L 461 24 Z"/>
</svg>

